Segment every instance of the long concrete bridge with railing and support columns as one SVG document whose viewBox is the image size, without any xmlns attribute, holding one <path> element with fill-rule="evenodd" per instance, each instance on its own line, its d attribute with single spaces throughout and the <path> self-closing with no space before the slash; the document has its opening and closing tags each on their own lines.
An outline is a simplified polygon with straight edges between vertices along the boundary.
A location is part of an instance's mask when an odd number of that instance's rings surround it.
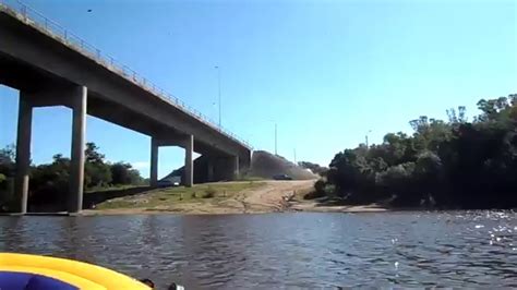
<svg viewBox="0 0 517 290">
<path fill-rule="evenodd" d="M 13 7 L 2 1 L 0 84 L 20 90 L 14 186 L 17 212 L 27 210 L 35 107 L 65 106 L 73 111 L 70 213 L 83 207 L 86 114 L 151 136 L 151 185 L 157 182 L 160 146 L 185 149 L 187 186 L 193 184 L 193 152 L 209 160 L 205 168 L 196 168 L 206 171 L 206 181 L 232 179 L 240 168 L 250 166 L 251 148 L 245 143 L 36 11 L 20 2 Z"/>
</svg>

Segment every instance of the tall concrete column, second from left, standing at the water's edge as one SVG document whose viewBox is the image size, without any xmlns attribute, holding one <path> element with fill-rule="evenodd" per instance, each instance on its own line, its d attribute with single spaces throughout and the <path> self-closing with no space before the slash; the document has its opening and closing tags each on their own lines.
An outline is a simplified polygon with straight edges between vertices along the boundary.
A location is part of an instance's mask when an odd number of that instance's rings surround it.
<svg viewBox="0 0 517 290">
<path fill-rule="evenodd" d="M 70 162 L 69 213 L 83 209 L 84 143 L 86 132 L 87 88 L 77 86 L 71 96 L 72 104 L 72 153 Z"/>
</svg>

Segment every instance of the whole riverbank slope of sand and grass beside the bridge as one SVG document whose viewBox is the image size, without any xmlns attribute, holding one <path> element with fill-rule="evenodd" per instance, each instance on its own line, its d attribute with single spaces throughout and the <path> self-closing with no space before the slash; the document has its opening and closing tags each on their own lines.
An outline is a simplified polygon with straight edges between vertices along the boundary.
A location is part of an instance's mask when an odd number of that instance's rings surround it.
<svg viewBox="0 0 517 290">
<path fill-rule="evenodd" d="M 381 212 L 376 206 L 321 206 L 305 201 L 314 180 L 242 181 L 199 184 L 191 189 L 158 189 L 118 197 L 84 210 L 85 215 L 262 214 L 278 212 Z"/>
</svg>

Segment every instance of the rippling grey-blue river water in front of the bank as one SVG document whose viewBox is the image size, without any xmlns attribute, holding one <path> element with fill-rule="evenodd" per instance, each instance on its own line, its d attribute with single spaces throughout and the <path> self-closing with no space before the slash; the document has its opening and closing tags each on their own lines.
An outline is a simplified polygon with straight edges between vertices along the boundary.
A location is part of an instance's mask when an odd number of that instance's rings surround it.
<svg viewBox="0 0 517 290">
<path fill-rule="evenodd" d="M 517 287 L 517 214 L 0 217 L 0 251 L 191 289 Z"/>
</svg>

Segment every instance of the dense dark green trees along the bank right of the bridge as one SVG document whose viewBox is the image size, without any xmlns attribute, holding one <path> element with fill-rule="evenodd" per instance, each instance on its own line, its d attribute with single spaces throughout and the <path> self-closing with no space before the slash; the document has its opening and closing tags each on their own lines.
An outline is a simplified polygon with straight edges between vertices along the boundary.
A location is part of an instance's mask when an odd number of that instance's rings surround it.
<svg viewBox="0 0 517 290">
<path fill-rule="evenodd" d="M 388 133 L 382 144 L 336 154 L 316 191 L 349 204 L 517 207 L 517 94 L 477 105 L 472 121 L 458 107 L 447 121 L 410 121 L 411 135 Z"/>
</svg>

